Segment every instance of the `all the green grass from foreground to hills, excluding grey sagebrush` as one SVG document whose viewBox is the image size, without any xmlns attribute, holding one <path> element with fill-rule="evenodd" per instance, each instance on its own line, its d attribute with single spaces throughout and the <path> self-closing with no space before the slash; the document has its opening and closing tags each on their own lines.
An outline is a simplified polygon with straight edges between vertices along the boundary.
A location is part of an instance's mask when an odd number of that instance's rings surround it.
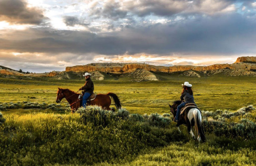
<svg viewBox="0 0 256 166">
<path fill-rule="evenodd" d="M 97 94 L 113 92 L 119 96 L 123 107 L 133 113 L 127 116 L 130 120 L 107 119 L 108 124 L 95 124 L 99 117 L 85 123 L 80 114 L 54 109 L 1 110 L 6 121 L 1 125 L 0 119 L 0 165 L 255 165 L 256 112 L 231 114 L 256 105 L 256 78 L 156 75 L 161 81 L 94 80 Z M 162 117 L 159 122 L 164 125 L 151 124 L 150 118 L 131 120 L 136 113 L 170 113 L 168 103 L 179 99 L 184 81 L 193 84 L 198 107 L 212 111 L 205 121 L 204 144 L 195 143 L 185 126 L 180 134 L 173 122 Z M 84 80 L 78 79 L 0 76 L 0 104 L 51 104 L 58 87 L 76 92 L 83 84 Z M 214 114 L 217 109 L 229 112 Z M 247 131 L 252 132 L 248 135 Z M 234 136 L 240 132 L 239 137 Z"/>
</svg>

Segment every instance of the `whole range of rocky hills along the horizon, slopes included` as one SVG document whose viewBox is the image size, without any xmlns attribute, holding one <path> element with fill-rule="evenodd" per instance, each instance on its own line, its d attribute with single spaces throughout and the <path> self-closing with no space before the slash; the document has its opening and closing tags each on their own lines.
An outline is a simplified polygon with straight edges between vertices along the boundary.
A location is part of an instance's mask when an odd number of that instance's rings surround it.
<svg viewBox="0 0 256 166">
<path fill-rule="evenodd" d="M 223 76 L 256 77 L 256 57 L 238 57 L 233 64 L 213 64 L 209 66 L 174 65 L 155 66 L 145 63 L 91 63 L 66 67 L 65 71 L 45 73 L 20 73 L 0 66 L 0 74 L 14 76 L 52 77 L 55 79 L 83 79 L 84 72 L 90 72 L 94 80 L 163 80 L 168 74 L 187 77 L 201 77 L 215 74 Z M 163 74 L 158 74 L 163 73 Z M 166 73 L 166 74 L 164 74 Z M 163 76 L 163 77 L 162 77 Z"/>
</svg>

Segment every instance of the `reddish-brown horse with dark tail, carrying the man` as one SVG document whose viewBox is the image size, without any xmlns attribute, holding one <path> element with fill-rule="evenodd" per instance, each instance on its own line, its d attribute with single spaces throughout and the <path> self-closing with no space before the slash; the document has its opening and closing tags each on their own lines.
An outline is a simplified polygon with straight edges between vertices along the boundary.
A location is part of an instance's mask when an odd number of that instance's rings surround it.
<svg viewBox="0 0 256 166">
<path fill-rule="evenodd" d="M 58 87 L 56 102 L 59 103 L 63 98 L 65 98 L 70 104 L 71 109 L 76 110 L 80 107 L 80 105 L 82 105 L 82 100 L 79 100 L 78 96 L 79 94 L 75 93 L 74 91 Z M 111 99 L 109 96 L 114 100 L 116 108 L 120 109 L 121 103 L 119 98 L 116 94 L 110 92 L 107 94 L 97 94 L 94 100 L 87 103 L 88 105 L 98 105 L 103 109 L 112 110 L 111 108 L 109 108 L 111 104 Z"/>
</svg>

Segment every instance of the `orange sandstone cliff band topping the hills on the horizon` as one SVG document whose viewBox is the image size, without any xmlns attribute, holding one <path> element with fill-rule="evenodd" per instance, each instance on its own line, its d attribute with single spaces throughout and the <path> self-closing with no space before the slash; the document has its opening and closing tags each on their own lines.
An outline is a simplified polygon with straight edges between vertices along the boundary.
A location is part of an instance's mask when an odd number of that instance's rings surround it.
<svg viewBox="0 0 256 166">
<path fill-rule="evenodd" d="M 218 69 L 232 70 L 256 70 L 256 57 L 238 57 L 234 64 L 213 64 L 209 66 L 175 65 L 175 66 L 154 66 L 141 63 L 92 63 L 66 67 L 66 72 L 110 72 L 116 74 L 134 72 L 143 69 L 151 72 L 179 72 L 179 71 L 207 71 Z"/>
</svg>

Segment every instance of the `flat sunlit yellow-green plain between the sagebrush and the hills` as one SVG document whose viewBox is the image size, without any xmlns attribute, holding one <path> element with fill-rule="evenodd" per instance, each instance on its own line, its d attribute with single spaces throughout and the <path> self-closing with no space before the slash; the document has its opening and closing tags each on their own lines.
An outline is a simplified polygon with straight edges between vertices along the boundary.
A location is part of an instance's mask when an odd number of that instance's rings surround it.
<svg viewBox="0 0 256 166">
<path fill-rule="evenodd" d="M 99 94 L 116 93 L 124 108 L 131 113 L 169 113 L 168 103 L 179 100 L 181 84 L 193 84 L 195 102 L 201 110 L 237 110 L 255 105 L 255 77 L 213 76 L 186 77 L 177 74 L 156 73 L 161 81 L 132 82 L 122 80 L 94 80 L 94 91 Z M 20 79 L 19 79 L 20 78 Z M 57 80 L 51 78 L 0 78 L 0 102 L 54 103 L 58 87 L 75 92 L 84 80 Z M 31 98 L 32 97 L 32 98 Z M 35 97 L 35 98 L 34 98 Z M 114 107 L 114 105 L 112 105 Z"/>
</svg>

